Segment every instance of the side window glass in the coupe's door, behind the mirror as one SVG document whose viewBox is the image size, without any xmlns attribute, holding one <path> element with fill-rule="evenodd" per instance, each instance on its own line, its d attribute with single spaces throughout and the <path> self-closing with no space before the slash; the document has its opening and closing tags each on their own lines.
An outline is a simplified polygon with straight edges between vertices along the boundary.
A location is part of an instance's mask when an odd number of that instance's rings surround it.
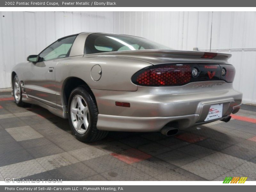
<svg viewBox="0 0 256 192">
<path fill-rule="evenodd" d="M 47 61 L 53 59 L 59 59 L 69 56 L 69 52 L 72 44 L 74 43 L 76 36 L 66 37 L 54 42 L 40 53 L 40 61 Z"/>
</svg>

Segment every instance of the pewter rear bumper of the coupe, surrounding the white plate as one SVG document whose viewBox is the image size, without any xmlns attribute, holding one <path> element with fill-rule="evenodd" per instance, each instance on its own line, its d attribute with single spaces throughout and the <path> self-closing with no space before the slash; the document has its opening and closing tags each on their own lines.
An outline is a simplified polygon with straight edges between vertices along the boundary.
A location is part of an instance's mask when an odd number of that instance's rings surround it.
<svg viewBox="0 0 256 192">
<path fill-rule="evenodd" d="M 234 90 L 232 83 L 211 81 L 215 83 L 221 84 L 204 88 L 195 87 L 198 82 L 179 87 L 138 87 L 136 92 L 92 90 L 99 109 L 97 128 L 155 132 L 171 122 L 186 128 L 227 118 L 239 110 L 242 93 Z M 116 101 L 129 102 L 131 107 L 116 106 Z M 215 104 L 223 104 L 222 117 L 205 122 L 210 106 Z"/>
</svg>

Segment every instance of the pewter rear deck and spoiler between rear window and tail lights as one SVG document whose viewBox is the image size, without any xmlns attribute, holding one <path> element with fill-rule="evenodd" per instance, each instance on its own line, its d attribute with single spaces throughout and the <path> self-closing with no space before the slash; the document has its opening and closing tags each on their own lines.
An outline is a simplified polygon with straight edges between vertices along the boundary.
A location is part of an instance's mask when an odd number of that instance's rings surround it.
<svg viewBox="0 0 256 192">
<path fill-rule="evenodd" d="M 106 52 L 94 55 L 100 57 L 122 57 L 149 62 L 153 65 L 175 62 L 228 63 L 230 54 L 218 53 L 213 59 L 202 59 L 205 52 L 178 50 L 137 50 L 122 52 Z"/>
</svg>

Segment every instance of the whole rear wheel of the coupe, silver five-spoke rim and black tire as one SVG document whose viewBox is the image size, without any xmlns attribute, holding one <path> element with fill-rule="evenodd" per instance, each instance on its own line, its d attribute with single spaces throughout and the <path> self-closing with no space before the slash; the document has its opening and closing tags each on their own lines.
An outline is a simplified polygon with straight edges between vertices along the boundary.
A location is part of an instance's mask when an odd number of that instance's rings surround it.
<svg viewBox="0 0 256 192">
<path fill-rule="evenodd" d="M 92 142 L 103 139 L 107 131 L 98 130 L 98 108 L 92 91 L 85 85 L 75 88 L 68 100 L 69 124 L 76 138 Z"/>
</svg>

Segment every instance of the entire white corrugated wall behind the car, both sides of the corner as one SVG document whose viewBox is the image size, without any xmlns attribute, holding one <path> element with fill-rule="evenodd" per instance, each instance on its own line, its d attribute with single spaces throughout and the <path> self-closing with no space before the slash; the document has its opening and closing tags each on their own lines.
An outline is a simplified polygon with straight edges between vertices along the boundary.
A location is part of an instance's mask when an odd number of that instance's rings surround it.
<svg viewBox="0 0 256 192">
<path fill-rule="evenodd" d="M 236 67 L 234 87 L 243 92 L 244 103 L 256 104 L 256 12 L 0 14 L 0 88 L 10 87 L 11 68 L 16 63 L 62 36 L 114 32 L 146 37 L 174 49 L 209 51 L 211 45 L 212 51 L 231 53 L 230 63 Z"/>
</svg>

